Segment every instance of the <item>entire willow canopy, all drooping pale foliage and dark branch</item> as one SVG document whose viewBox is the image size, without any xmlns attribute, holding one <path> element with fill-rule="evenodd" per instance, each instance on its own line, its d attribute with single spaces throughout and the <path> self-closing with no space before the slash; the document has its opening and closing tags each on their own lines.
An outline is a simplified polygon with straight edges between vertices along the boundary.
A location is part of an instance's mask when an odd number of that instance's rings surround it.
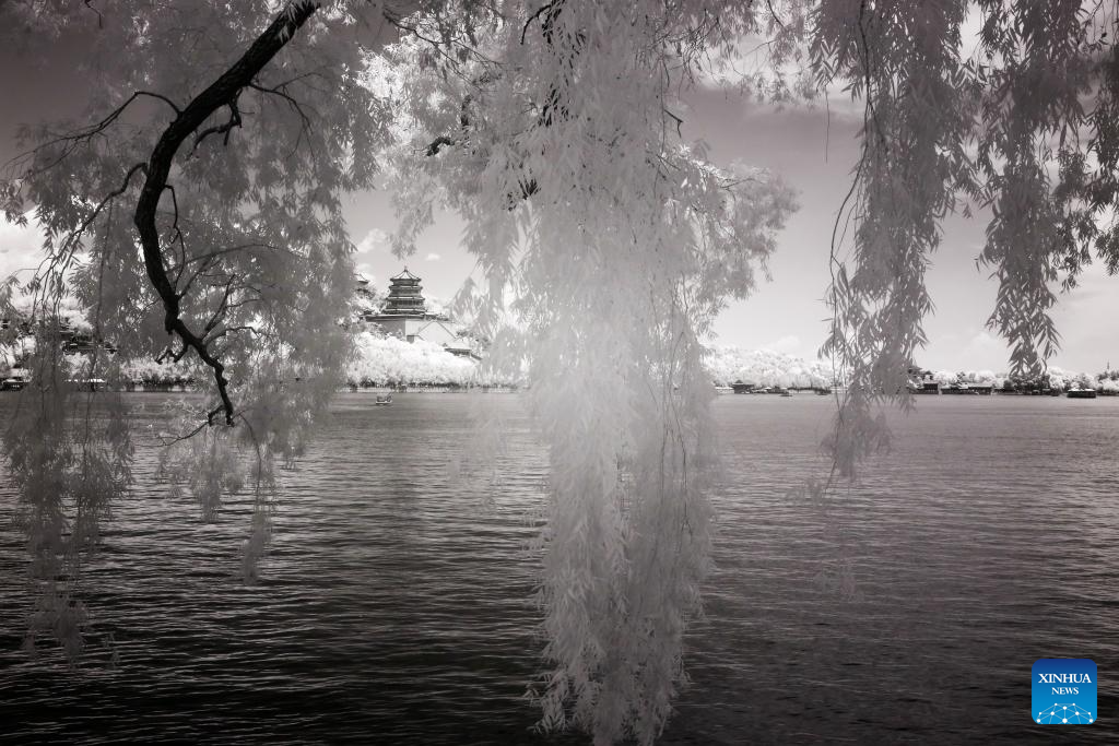
<svg viewBox="0 0 1119 746">
<path fill-rule="evenodd" d="M 750 291 L 793 207 L 772 176 L 688 147 L 681 96 L 713 67 L 733 75 L 768 38 L 767 72 L 743 75 L 744 88 L 788 98 L 808 81 L 865 104 L 853 188 L 837 196 L 853 252 L 843 265 L 833 242 L 826 344 L 849 383 L 828 446 L 850 473 L 882 444 L 874 405 L 904 390 L 924 341 L 923 272 L 949 211 L 993 208 L 991 322 L 1017 367 L 1054 348 L 1060 272 L 1072 282 L 1090 244 L 1115 270 L 1119 243 L 1100 218 L 1119 157 L 1103 36 L 1116 15 L 1101 8 L 9 2 L 3 12 L 47 29 L 88 26 L 100 62 L 86 123 L 28 133 L 4 207 L 19 219 L 34 206 L 46 232 L 39 301 L 73 291 L 123 352 L 198 367 L 209 400 L 182 425 L 168 473 L 213 514 L 242 481 L 231 447 L 245 448 L 254 551 L 272 464 L 298 454 L 348 352 L 340 195 L 384 164 L 402 253 L 436 206 L 455 209 L 488 278 L 477 300 L 490 362 L 527 358 L 548 445 L 542 724 L 649 743 L 683 677 L 708 563 L 716 465 L 702 341 Z M 967 58 L 960 29 L 977 13 Z M 397 43 L 382 46 L 383 25 Z M 49 323 L 39 329 L 6 457 L 34 560 L 32 630 L 76 650 L 67 578 L 129 484 L 131 445 L 115 409 L 72 421 L 69 374 Z M 112 375 L 109 360 L 90 365 Z"/>
</svg>

